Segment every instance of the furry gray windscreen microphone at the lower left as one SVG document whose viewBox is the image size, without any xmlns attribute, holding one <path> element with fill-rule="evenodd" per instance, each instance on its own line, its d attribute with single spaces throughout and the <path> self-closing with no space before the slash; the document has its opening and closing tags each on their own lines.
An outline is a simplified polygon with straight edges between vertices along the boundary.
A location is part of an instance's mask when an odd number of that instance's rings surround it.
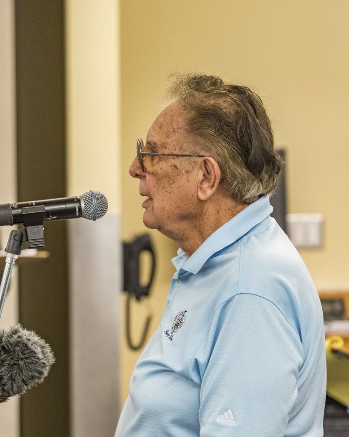
<svg viewBox="0 0 349 437">
<path fill-rule="evenodd" d="M 53 363 L 51 348 L 33 331 L 0 329 L 0 402 L 42 383 Z"/>
</svg>

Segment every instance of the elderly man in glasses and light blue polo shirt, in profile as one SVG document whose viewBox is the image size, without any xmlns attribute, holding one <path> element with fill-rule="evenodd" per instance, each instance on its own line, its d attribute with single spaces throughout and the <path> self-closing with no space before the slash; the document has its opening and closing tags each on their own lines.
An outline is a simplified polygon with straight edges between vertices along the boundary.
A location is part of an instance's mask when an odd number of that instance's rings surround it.
<svg viewBox="0 0 349 437">
<path fill-rule="evenodd" d="M 180 77 L 137 142 L 145 226 L 179 246 L 116 436 L 322 436 L 317 290 L 273 218 L 281 161 L 249 88 Z"/>
</svg>

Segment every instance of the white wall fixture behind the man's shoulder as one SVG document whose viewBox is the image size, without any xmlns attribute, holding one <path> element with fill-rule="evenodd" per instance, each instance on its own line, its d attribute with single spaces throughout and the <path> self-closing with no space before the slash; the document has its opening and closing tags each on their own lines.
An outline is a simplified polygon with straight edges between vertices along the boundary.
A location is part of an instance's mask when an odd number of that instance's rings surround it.
<svg viewBox="0 0 349 437">
<path fill-rule="evenodd" d="M 287 214 L 287 235 L 297 249 L 321 249 L 324 245 L 323 214 Z"/>
</svg>

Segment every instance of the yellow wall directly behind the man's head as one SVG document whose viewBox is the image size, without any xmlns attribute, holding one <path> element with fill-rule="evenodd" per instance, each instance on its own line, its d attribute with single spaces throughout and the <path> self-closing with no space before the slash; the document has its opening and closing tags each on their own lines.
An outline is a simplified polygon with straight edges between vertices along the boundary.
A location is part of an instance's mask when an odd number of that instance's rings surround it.
<svg viewBox="0 0 349 437">
<path fill-rule="evenodd" d="M 275 142 L 287 150 L 288 212 L 322 213 L 325 247 L 302 251 L 318 288 L 349 286 L 349 2 L 346 0 L 121 0 L 123 237 L 145 232 L 135 141 L 163 105 L 166 77 L 202 71 L 254 88 Z M 174 243 L 151 232 L 159 269 L 156 329 L 173 273 Z M 134 317 L 143 323 L 145 303 Z M 138 329 L 138 327 L 137 327 Z M 135 331 L 135 335 L 138 331 Z M 122 401 L 138 356 L 122 348 Z"/>
</svg>

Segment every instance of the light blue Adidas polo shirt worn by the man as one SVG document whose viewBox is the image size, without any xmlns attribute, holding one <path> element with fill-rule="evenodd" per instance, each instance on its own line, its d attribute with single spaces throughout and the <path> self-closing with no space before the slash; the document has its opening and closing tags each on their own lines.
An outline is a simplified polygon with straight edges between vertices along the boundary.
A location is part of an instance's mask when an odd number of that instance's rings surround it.
<svg viewBox="0 0 349 437">
<path fill-rule="evenodd" d="M 267 196 L 173 263 L 115 436 L 323 436 L 322 309 Z"/>
</svg>

